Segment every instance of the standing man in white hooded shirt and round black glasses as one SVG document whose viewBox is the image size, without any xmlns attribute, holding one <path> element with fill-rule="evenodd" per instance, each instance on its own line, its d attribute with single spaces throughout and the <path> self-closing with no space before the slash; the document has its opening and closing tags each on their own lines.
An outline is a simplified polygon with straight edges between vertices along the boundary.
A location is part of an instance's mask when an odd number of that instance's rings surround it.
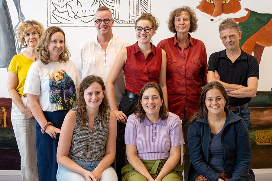
<svg viewBox="0 0 272 181">
<path fill-rule="evenodd" d="M 100 6 L 95 16 L 97 35 L 79 45 L 75 64 L 81 80 L 88 75 L 96 75 L 106 83 L 116 55 L 121 48 L 129 46 L 128 42 L 112 33 L 113 23 L 110 9 Z M 117 107 L 125 90 L 124 79 L 122 71 L 114 86 Z"/>
</svg>

